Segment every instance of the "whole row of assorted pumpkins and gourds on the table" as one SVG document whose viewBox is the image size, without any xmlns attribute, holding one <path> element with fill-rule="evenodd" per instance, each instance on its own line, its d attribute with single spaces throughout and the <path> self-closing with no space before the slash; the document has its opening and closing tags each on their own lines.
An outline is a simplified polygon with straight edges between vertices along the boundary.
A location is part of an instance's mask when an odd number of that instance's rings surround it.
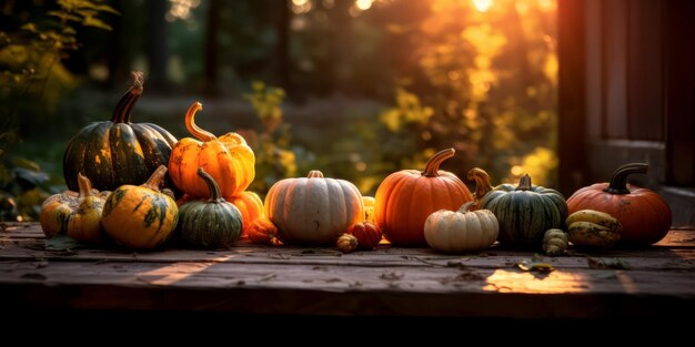
<svg viewBox="0 0 695 347">
<path fill-rule="evenodd" d="M 646 172 L 646 164 L 623 165 L 610 183 L 584 187 L 568 200 L 532 185 L 528 175 L 518 185 L 493 188 L 490 176 L 473 169 L 472 194 L 456 175 L 439 170 L 453 149 L 434 154 L 423 171 L 389 175 L 374 197 L 311 171 L 276 182 L 262 202 L 246 191 L 255 157 L 241 135 L 218 137 L 200 129 L 194 122 L 199 102 L 185 115 L 195 139 L 177 141 L 155 124 L 131 123 L 142 90 L 142 74 L 134 72 L 111 120 L 85 126 L 68 145 L 63 173 L 70 191 L 49 197 L 41 208 L 48 237 L 112 239 L 141 249 L 172 237 L 193 247 L 226 247 L 248 235 L 255 243 L 338 245 L 349 252 L 373 249 L 383 233 L 396 246 L 442 252 L 484 249 L 500 241 L 557 253 L 567 235 L 577 245 L 608 246 L 617 239 L 648 245 L 671 227 L 666 203 L 626 183 L 629 174 Z"/>
</svg>

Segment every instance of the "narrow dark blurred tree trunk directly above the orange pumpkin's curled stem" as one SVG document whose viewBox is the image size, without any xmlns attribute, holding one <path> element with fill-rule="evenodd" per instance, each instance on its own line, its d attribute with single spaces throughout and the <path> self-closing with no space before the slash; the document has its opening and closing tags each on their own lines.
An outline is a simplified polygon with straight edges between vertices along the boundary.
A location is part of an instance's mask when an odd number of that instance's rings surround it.
<svg viewBox="0 0 695 347">
<path fill-rule="evenodd" d="M 219 89 L 219 32 L 221 0 L 211 0 L 208 8 L 208 28 L 205 30 L 205 94 L 214 96 L 220 93 Z"/>
</svg>

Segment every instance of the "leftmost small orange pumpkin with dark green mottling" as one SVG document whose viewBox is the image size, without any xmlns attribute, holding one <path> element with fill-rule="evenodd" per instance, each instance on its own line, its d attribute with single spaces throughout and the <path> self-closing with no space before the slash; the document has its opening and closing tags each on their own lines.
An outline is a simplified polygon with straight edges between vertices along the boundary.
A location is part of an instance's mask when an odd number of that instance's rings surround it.
<svg viewBox="0 0 695 347">
<path fill-rule="evenodd" d="M 39 215 L 41 229 L 47 237 L 64 234 L 77 241 L 98 243 L 103 236 L 101 211 L 104 197 L 92 190 L 91 182 L 81 173 L 78 184 L 79 193 L 64 192 L 43 202 Z"/>
</svg>

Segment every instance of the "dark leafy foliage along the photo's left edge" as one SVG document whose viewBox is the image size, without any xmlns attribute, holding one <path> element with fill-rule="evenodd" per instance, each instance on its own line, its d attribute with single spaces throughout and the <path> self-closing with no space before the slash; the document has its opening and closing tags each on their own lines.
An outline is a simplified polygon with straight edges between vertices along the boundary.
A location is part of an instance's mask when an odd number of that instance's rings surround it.
<svg viewBox="0 0 695 347">
<path fill-rule="evenodd" d="M 48 174 L 9 155 L 21 140 L 19 112 L 54 112 L 63 92 L 77 83 L 61 63 L 80 47 L 75 24 L 111 30 L 99 16 L 118 13 L 99 1 L 59 0 L 57 6 L 16 28 L 0 27 L 0 221 L 36 220 L 48 196 Z M 13 6 L 3 11 L 12 14 Z"/>
</svg>

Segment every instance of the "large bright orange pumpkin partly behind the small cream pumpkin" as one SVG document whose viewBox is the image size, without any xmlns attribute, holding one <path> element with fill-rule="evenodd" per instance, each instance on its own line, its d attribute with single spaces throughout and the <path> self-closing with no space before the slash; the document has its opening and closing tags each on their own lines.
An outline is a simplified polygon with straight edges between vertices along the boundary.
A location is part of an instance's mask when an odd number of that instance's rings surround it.
<svg viewBox="0 0 695 347">
<path fill-rule="evenodd" d="M 472 201 L 469 188 L 440 164 L 454 156 L 454 149 L 434 154 L 424 171 L 401 170 L 379 185 L 374 196 L 374 220 L 392 244 L 426 246 L 424 225 L 439 210 L 456 210 Z"/>
</svg>

